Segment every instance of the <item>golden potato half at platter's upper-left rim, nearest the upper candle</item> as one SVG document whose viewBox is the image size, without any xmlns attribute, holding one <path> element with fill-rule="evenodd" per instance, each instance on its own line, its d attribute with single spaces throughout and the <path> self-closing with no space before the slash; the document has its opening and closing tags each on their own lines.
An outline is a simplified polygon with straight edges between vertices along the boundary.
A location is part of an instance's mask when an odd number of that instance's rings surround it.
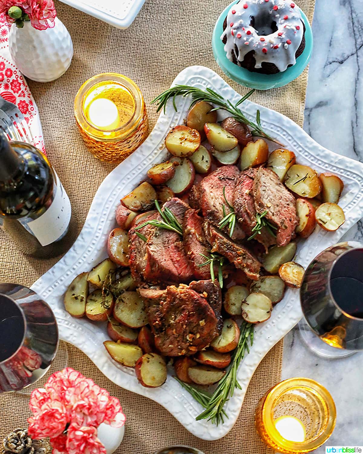
<svg viewBox="0 0 363 454">
<path fill-rule="evenodd" d="M 165 146 L 173 156 L 187 158 L 200 145 L 200 134 L 196 129 L 183 124 L 175 126 L 165 138 Z"/>
</svg>

